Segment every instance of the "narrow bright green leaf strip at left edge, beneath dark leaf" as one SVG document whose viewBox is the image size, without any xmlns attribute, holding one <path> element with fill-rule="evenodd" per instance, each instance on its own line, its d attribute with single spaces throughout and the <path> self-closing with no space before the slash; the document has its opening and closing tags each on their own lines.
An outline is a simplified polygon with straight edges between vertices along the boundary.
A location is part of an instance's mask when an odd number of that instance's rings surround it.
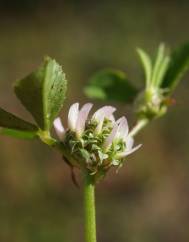
<svg viewBox="0 0 189 242">
<path fill-rule="evenodd" d="M 0 134 L 20 139 L 34 139 L 37 137 L 37 132 L 35 131 L 21 131 L 7 128 L 0 129 Z"/>
</svg>

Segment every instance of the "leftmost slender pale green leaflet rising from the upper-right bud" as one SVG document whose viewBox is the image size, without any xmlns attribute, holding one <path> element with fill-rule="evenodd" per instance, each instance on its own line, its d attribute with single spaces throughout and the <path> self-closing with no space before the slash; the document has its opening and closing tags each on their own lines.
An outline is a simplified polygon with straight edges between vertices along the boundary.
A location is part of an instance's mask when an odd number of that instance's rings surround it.
<svg viewBox="0 0 189 242">
<path fill-rule="evenodd" d="M 142 49 L 138 48 L 137 53 L 140 57 L 141 63 L 144 68 L 144 73 L 146 77 L 146 86 L 150 85 L 151 76 L 152 76 L 152 62 L 150 56 Z"/>
</svg>

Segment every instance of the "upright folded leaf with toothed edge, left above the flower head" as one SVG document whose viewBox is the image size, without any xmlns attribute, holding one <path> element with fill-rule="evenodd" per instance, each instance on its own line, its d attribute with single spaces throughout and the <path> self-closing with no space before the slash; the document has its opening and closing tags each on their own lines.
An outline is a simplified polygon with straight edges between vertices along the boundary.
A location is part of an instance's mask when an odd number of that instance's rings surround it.
<svg viewBox="0 0 189 242">
<path fill-rule="evenodd" d="M 15 84 L 15 93 L 42 130 L 49 130 L 60 112 L 67 90 L 61 66 L 47 57 L 33 73 Z"/>
</svg>

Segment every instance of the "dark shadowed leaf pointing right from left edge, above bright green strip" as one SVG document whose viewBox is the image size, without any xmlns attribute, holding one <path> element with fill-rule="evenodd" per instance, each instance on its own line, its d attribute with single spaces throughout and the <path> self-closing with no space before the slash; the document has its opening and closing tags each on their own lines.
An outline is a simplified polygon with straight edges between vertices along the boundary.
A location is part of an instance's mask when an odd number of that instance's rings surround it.
<svg viewBox="0 0 189 242">
<path fill-rule="evenodd" d="M 16 129 L 21 131 L 37 131 L 38 128 L 34 124 L 22 120 L 21 118 L 0 108 L 0 127 L 8 129 Z"/>
</svg>

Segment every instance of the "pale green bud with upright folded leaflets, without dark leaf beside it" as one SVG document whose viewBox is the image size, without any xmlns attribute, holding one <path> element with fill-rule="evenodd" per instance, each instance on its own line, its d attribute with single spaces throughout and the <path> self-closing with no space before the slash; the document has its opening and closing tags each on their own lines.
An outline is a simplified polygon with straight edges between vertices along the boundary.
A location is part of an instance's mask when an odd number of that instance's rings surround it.
<svg viewBox="0 0 189 242">
<path fill-rule="evenodd" d="M 169 88 L 162 87 L 171 61 L 165 45 L 160 44 L 155 61 L 142 50 L 137 49 L 145 74 L 145 90 L 136 99 L 139 118 L 149 120 L 162 116 L 167 111 Z"/>
</svg>

